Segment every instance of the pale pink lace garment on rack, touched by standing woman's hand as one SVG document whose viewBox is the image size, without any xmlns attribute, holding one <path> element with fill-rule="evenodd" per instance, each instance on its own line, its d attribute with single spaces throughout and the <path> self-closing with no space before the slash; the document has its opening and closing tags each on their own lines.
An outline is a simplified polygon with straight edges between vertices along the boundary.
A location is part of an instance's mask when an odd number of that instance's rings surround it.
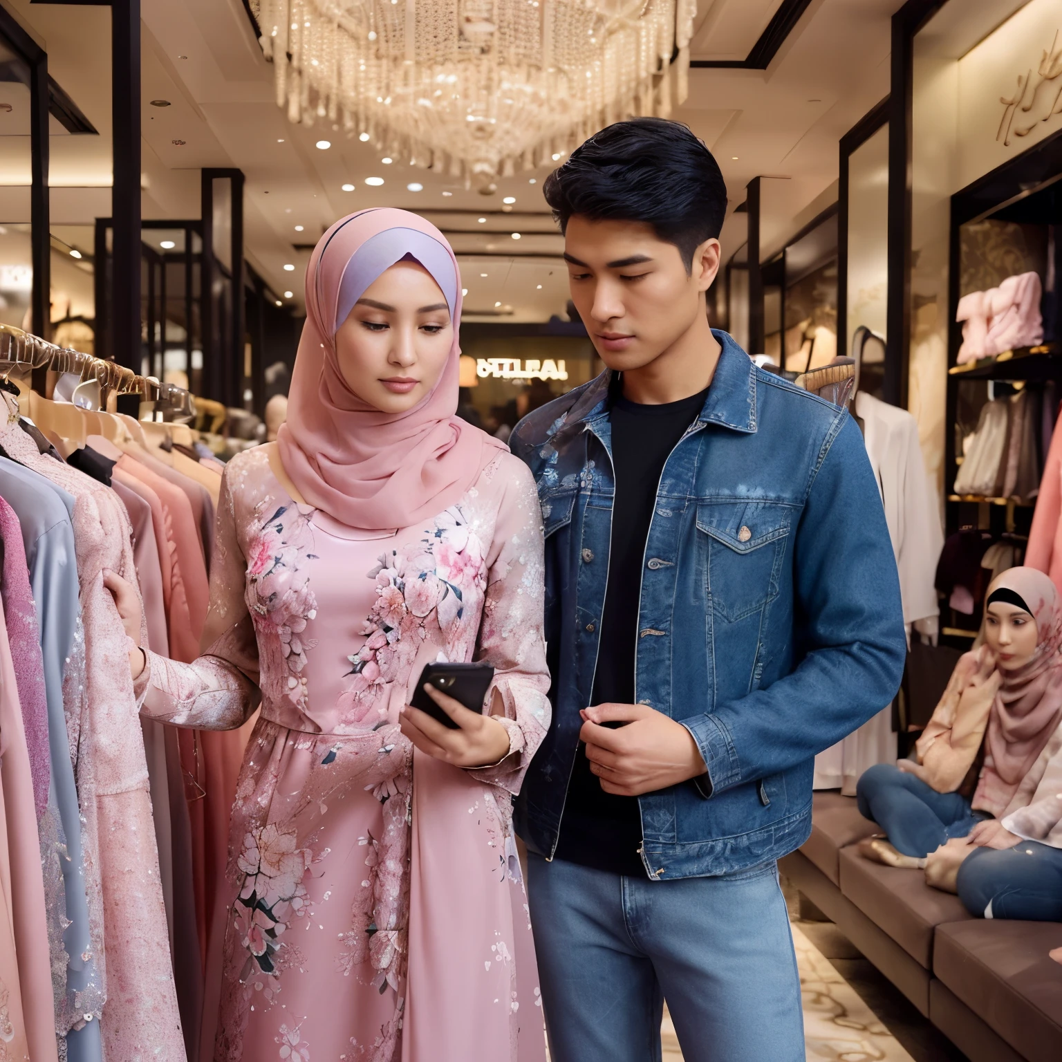
<svg viewBox="0 0 1062 1062">
<path fill-rule="evenodd" d="M 17 414 L 10 395 L 3 394 L 3 401 Z M 103 585 L 104 569 L 136 582 L 132 529 L 109 487 L 41 455 L 11 415 L 0 423 L 0 445 L 74 498 L 86 666 L 84 714 L 68 719 L 67 729 L 76 756 L 85 859 L 96 864 L 101 881 L 102 896 L 90 897 L 90 923 L 106 987 L 104 1052 L 109 1059 L 136 1059 L 150 1047 L 157 1062 L 184 1062 L 143 738 L 125 632 Z"/>
</svg>

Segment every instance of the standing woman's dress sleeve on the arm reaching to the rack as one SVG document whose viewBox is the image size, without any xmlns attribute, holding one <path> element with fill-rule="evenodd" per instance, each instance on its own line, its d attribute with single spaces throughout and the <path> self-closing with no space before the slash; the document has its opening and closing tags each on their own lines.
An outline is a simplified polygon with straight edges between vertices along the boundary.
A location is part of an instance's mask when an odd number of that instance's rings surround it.
<svg viewBox="0 0 1062 1062">
<path fill-rule="evenodd" d="M 203 653 L 191 664 L 179 664 L 145 650 L 148 664 L 135 683 L 140 714 L 174 726 L 236 730 L 260 696 L 258 644 L 243 596 L 246 561 L 236 534 L 228 475 L 226 468 L 215 524 Z"/>
</svg>

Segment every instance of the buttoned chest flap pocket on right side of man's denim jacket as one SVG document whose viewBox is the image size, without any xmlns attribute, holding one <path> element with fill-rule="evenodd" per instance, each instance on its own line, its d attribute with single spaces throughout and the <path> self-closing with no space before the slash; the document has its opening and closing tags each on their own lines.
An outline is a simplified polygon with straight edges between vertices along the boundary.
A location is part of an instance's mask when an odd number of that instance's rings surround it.
<svg viewBox="0 0 1062 1062">
<path fill-rule="evenodd" d="M 697 507 L 713 607 L 731 622 L 778 595 L 791 508 L 772 501 L 708 501 Z"/>
</svg>

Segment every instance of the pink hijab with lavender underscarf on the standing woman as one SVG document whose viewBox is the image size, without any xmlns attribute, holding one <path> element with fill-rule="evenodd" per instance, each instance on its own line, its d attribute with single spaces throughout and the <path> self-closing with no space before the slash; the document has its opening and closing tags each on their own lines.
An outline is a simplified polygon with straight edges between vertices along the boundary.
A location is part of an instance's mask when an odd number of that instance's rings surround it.
<svg viewBox="0 0 1062 1062">
<path fill-rule="evenodd" d="M 419 262 L 450 307 L 453 345 L 434 390 L 406 413 L 383 413 L 347 386 L 336 330 L 355 302 L 404 258 Z M 453 504 L 504 445 L 455 416 L 461 275 L 434 225 L 406 210 L 362 210 L 321 237 L 306 271 L 306 324 L 277 435 L 303 497 L 366 531 L 409 527 Z"/>
</svg>

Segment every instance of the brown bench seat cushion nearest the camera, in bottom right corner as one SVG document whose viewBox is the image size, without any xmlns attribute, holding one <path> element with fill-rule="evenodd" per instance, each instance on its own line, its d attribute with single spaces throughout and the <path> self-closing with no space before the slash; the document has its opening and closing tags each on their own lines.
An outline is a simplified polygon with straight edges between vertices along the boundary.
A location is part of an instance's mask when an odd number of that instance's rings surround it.
<svg viewBox="0 0 1062 1062">
<path fill-rule="evenodd" d="M 952 921 L 937 929 L 933 973 L 1029 1062 L 1059 1062 L 1062 965 L 1047 957 L 1056 947 L 1057 922 Z"/>
</svg>

